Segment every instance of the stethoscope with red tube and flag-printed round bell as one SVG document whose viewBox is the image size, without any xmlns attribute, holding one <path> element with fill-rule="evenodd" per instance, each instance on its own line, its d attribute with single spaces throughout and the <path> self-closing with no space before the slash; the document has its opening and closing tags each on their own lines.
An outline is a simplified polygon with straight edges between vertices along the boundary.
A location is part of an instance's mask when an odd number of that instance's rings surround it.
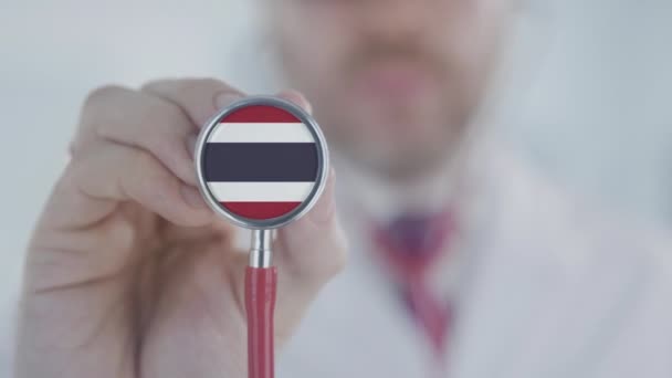
<svg viewBox="0 0 672 378">
<path fill-rule="evenodd" d="M 210 208 L 252 230 L 245 271 L 248 375 L 272 378 L 277 284 L 273 230 L 304 216 L 319 198 L 328 172 L 326 140 L 301 107 L 277 97 L 251 96 L 207 123 L 195 162 Z"/>
</svg>

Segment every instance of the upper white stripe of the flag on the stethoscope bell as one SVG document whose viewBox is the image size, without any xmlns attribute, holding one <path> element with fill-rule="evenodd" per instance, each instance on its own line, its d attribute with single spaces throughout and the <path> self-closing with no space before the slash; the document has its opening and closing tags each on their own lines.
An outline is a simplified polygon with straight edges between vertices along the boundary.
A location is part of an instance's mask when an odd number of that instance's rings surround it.
<svg viewBox="0 0 672 378">
<path fill-rule="evenodd" d="M 210 135 L 214 143 L 314 143 L 302 123 L 221 123 Z"/>
</svg>

